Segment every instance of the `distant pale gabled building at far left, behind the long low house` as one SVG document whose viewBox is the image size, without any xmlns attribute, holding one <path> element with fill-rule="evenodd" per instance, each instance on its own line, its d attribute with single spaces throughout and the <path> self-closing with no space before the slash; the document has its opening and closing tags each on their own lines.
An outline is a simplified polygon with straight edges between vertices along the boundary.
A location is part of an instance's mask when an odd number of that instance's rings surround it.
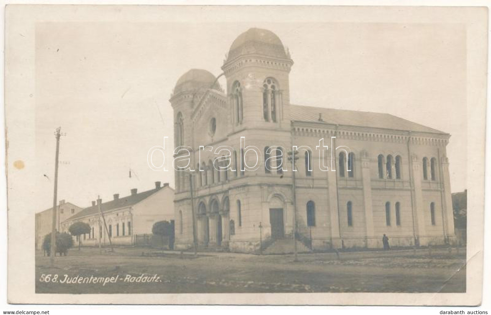
<svg viewBox="0 0 491 315">
<path fill-rule="evenodd" d="M 60 200 L 58 206 L 56 207 L 56 231 L 60 231 L 61 222 L 68 219 L 74 214 L 82 211 L 82 208 L 76 206 L 70 202 L 65 202 L 65 200 Z M 40 250 L 43 247 L 44 236 L 51 233 L 53 222 L 53 208 L 36 213 L 35 218 L 35 237 L 36 237 L 36 249 Z"/>
</svg>

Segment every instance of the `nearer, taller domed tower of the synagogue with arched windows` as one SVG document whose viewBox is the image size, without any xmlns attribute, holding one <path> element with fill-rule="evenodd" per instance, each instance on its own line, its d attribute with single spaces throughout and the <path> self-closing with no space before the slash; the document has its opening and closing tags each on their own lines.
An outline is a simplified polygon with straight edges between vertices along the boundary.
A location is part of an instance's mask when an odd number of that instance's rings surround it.
<svg viewBox="0 0 491 315">
<path fill-rule="evenodd" d="M 232 43 L 222 70 L 232 105 L 234 130 L 247 123 L 290 128 L 289 74 L 293 60 L 272 31 L 250 28 Z"/>
</svg>

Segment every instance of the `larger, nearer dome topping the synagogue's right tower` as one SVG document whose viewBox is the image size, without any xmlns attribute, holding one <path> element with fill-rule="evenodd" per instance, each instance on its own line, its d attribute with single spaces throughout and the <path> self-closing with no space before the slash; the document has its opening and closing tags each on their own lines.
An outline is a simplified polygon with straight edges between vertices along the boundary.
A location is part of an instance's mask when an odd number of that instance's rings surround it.
<svg viewBox="0 0 491 315">
<path fill-rule="evenodd" d="M 227 61 L 249 53 L 288 58 L 279 37 L 272 31 L 262 28 L 249 28 L 240 34 L 230 46 Z"/>
</svg>

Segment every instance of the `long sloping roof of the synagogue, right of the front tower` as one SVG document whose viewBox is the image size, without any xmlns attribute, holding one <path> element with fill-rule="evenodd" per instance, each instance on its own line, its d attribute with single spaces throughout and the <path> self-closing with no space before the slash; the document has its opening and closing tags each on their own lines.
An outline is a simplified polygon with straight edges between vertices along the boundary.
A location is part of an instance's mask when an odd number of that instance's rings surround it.
<svg viewBox="0 0 491 315">
<path fill-rule="evenodd" d="M 290 109 L 292 121 L 319 122 L 319 114 L 324 123 L 334 125 L 447 134 L 391 114 L 302 105 L 291 105 Z"/>
</svg>

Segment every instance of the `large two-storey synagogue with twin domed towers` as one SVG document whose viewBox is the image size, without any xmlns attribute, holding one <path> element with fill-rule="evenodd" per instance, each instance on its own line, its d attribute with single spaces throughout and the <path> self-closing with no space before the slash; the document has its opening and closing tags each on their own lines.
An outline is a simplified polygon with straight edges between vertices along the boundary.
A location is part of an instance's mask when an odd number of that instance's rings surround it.
<svg viewBox="0 0 491 315">
<path fill-rule="evenodd" d="M 392 246 L 452 242 L 450 135 L 389 114 L 290 104 L 292 66 L 273 32 L 251 28 L 222 66 L 226 91 L 206 70 L 177 81 L 174 142 L 185 150 L 175 160 L 190 154 L 192 167 L 175 172 L 176 248 L 191 247 L 194 230 L 200 247 L 257 251 L 292 238 L 295 222 L 314 250 L 378 248 L 383 234 Z"/>
</svg>

